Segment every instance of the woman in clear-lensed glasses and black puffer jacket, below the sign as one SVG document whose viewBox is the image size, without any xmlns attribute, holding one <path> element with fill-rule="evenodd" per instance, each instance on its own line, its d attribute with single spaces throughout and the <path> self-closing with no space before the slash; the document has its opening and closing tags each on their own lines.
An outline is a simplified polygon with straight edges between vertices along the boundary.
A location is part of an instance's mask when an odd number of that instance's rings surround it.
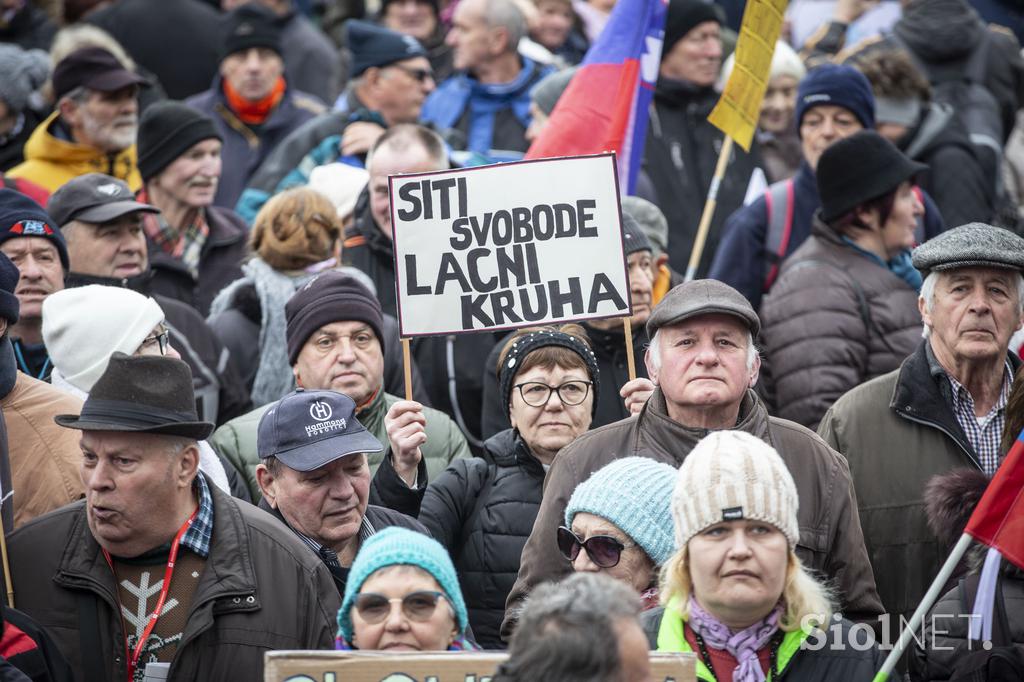
<svg viewBox="0 0 1024 682">
<path fill-rule="evenodd" d="M 498 383 L 512 428 L 482 459 L 456 460 L 423 498 L 420 521 L 451 552 L 466 586 L 469 621 L 484 648 L 499 634 L 558 451 L 590 428 L 600 387 L 597 359 L 577 325 L 521 330 L 499 356 Z"/>
</svg>

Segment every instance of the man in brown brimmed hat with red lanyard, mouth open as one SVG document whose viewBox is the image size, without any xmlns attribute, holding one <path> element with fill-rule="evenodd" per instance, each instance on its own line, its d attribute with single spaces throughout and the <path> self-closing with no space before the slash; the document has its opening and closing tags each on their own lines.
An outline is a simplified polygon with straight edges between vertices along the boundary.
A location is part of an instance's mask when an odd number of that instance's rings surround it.
<svg viewBox="0 0 1024 682">
<path fill-rule="evenodd" d="M 263 652 L 326 648 L 340 599 L 293 534 L 198 471 L 188 367 L 115 353 L 81 414 L 86 500 L 8 540 L 18 607 L 87 679 L 261 679 Z M 158 615 L 159 613 L 159 615 Z"/>
</svg>

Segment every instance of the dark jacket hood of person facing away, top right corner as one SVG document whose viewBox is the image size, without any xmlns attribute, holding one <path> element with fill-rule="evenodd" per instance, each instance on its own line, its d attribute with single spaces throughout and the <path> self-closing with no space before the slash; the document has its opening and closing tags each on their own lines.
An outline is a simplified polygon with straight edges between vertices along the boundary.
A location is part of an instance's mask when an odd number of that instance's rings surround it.
<svg viewBox="0 0 1024 682">
<path fill-rule="evenodd" d="M 970 53 L 985 27 L 967 0 L 912 0 L 893 31 L 924 60 L 945 61 Z"/>
</svg>

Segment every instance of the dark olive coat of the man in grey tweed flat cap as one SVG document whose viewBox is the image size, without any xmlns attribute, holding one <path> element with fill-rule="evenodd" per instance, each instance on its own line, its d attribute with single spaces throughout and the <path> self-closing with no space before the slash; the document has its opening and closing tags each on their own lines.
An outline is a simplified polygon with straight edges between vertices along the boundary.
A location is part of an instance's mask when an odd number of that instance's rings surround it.
<svg viewBox="0 0 1024 682">
<path fill-rule="evenodd" d="M 898 370 L 837 400 L 818 427 L 850 463 L 879 594 L 894 615 L 910 616 L 946 558 L 928 527 L 925 484 L 981 468 L 950 406 L 949 381 L 925 341 Z"/>
</svg>

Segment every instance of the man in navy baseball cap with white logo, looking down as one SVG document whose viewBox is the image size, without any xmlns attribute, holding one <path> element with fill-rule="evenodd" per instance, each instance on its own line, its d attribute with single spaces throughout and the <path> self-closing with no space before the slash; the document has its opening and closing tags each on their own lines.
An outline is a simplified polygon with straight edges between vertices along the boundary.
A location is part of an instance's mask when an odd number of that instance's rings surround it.
<svg viewBox="0 0 1024 682">
<path fill-rule="evenodd" d="M 316 552 L 339 595 L 359 546 L 378 530 L 397 525 L 430 535 L 410 516 L 368 504 L 367 455 L 384 445 L 344 393 L 300 388 L 286 395 L 260 419 L 258 447 L 260 508 Z"/>
</svg>

